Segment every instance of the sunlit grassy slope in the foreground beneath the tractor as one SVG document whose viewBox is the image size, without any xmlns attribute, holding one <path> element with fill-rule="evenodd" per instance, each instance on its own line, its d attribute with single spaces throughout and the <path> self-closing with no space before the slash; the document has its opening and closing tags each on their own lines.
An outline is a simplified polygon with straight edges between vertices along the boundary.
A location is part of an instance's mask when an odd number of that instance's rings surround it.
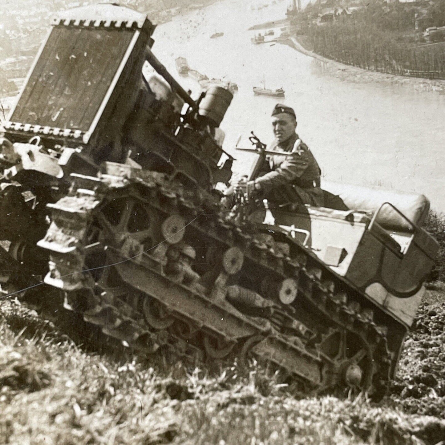
<svg viewBox="0 0 445 445">
<path fill-rule="evenodd" d="M 445 312 L 441 302 L 430 306 Z M 362 397 L 297 400 L 255 366 L 244 375 L 233 367 L 209 376 L 162 356 L 119 362 L 82 351 L 18 302 L 2 302 L 0 311 L 0 443 L 433 445 L 445 439 L 444 421 L 402 413 L 397 394 L 380 406 Z M 404 366 L 399 386 L 408 385 Z"/>
</svg>

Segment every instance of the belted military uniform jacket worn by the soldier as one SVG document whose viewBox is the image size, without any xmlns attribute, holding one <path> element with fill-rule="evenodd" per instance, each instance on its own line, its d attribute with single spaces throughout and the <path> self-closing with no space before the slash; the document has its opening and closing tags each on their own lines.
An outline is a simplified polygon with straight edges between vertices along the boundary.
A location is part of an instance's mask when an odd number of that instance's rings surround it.
<svg viewBox="0 0 445 445">
<path fill-rule="evenodd" d="M 279 144 L 273 141 L 267 150 L 291 152 L 298 139 L 292 135 Z M 255 182 L 259 183 L 264 196 L 271 202 L 286 204 L 302 202 L 312 206 L 323 206 L 323 191 L 320 189 L 320 167 L 304 142 L 295 153 L 268 155 Z"/>
</svg>

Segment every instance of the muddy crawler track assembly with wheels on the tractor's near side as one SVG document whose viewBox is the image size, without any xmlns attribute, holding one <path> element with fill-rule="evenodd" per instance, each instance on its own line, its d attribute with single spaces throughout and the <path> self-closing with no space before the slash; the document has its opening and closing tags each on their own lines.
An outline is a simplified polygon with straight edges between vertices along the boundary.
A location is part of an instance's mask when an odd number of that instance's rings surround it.
<svg viewBox="0 0 445 445">
<path fill-rule="evenodd" d="M 306 391 L 384 393 L 384 314 L 291 237 L 142 170 L 73 175 L 49 207 L 45 282 L 107 336 L 198 361 L 255 357 Z"/>
</svg>

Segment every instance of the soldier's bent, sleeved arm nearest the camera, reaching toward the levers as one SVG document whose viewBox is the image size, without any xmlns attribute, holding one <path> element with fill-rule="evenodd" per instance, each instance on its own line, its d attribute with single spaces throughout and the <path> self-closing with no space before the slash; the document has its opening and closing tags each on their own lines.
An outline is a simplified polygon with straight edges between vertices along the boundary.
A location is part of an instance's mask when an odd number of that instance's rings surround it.
<svg viewBox="0 0 445 445">
<path fill-rule="evenodd" d="M 284 162 L 274 171 L 264 174 L 255 179 L 255 183 L 263 191 L 269 191 L 275 187 L 289 184 L 297 178 L 300 178 L 307 169 L 308 154 L 304 151 L 301 155 L 292 153 Z"/>
</svg>

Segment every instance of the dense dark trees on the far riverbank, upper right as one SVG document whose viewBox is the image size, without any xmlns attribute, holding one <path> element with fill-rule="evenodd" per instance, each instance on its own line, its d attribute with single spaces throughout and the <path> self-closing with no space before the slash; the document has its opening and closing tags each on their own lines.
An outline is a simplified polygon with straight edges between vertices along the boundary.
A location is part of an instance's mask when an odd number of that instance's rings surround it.
<svg viewBox="0 0 445 445">
<path fill-rule="evenodd" d="M 427 7 L 428 25 L 443 26 L 445 0 Z M 321 26 L 314 23 L 319 11 L 311 5 L 297 19 L 298 34 L 307 36 L 308 46 L 316 53 L 383 73 L 445 78 L 445 44 L 419 46 L 423 37 L 415 35 L 415 14 L 420 7 L 372 2 Z"/>
</svg>

